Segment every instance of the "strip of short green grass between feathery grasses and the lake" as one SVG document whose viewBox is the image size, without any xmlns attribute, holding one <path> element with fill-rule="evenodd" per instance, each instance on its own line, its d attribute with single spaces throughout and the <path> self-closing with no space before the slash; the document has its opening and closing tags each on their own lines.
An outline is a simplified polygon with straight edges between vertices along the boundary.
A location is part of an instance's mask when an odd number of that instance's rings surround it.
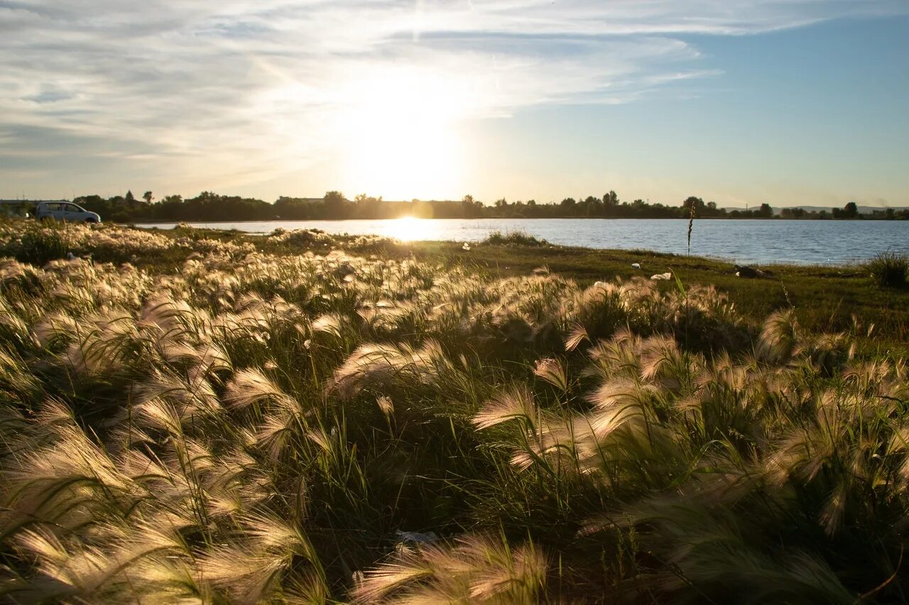
<svg viewBox="0 0 909 605">
<path fill-rule="evenodd" d="M 160 232 L 179 237 L 175 233 Z M 249 235 L 239 231 L 189 230 L 195 237 L 225 243 L 249 243 L 256 250 L 280 255 L 301 249 L 329 250 L 343 246 L 354 253 L 382 254 L 388 258 L 416 258 L 459 267 L 488 277 L 514 277 L 546 269 L 581 285 L 615 279 L 649 279 L 656 273 L 673 272 L 683 285 L 714 285 L 728 295 L 738 312 L 760 323 L 771 312 L 792 310 L 797 320 L 812 332 L 855 331 L 857 321 L 872 328 L 873 338 L 862 339 L 863 351 L 909 353 L 909 293 L 904 289 L 875 287 L 871 270 L 861 264 L 845 266 L 774 264 L 764 269 L 772 276 L 760 279 L 737 277 L 733 263 L 704 257 L 637 250 L 594 250 L 547 243 L 534 245 L 409 242 L 392 243 L 385 238 L 319 236 L 291 239 Z M 533 238 L 531 238 L 533 239 Z M 331 241 L 331 244 L 325 244 Z M 179 257 L 170 266 L 179 263 Z M 159 263 L 158 258 L 148 263 Z M 634 263 L 641 265 L 635 268 Z M 676 288 L 674 280 L 655 283 L 662 291 Z"/>
</svg>

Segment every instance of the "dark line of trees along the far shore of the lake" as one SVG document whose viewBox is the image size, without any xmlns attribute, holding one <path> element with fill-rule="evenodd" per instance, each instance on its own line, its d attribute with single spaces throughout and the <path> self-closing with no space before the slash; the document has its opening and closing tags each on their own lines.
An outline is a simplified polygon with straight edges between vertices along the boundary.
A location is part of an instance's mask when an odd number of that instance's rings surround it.
<svg viewBox="0 0 909 605">
<path fill-rule="evenodd" d="M 314 219 L 392 219 L 402 216 L 420 218 L 749 218 L 749 219 L 909 219 L 909 211 L 886 209 L 872 214 L 858 213 L 854 202 L 830 212 L 809 212 L 802 208 L 784 208 L 774 213 L 768 203 L 751 209 L 720 208 L 715 202 L 690 196 L 681 205 L 648 203 L 644 200 L 622 202 L 614 191 L 601 197 L 589 195 L 561 202 L 508 202 L 505 199 L 485 204 L 465 195 L 458 201 L 391 202 L 366 194 L 349 200 L 343 193 L 330 191 L 321 198 L 281 196 L 274 203 L 263 200 L 202 192 L 184 199 L 167 195 L 160 200 L 147 191 L 136 198 L 130 191 L 125 195 L 103 198 L 83 195 L 75 203 L 98 213 L 102 220 L 115 223 L 143 222 L 215 222 L 215 221 L 272 221 Z"/>
</svg>

